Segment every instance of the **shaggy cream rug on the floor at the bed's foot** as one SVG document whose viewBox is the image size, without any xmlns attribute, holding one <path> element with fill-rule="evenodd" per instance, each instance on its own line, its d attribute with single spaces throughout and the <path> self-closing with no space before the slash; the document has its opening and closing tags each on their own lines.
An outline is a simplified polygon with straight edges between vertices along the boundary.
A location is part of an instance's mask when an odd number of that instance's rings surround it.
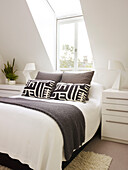
<svg viewBox="0 0 128 170">
<path fill-rule="evenodd" d="M 64 170 L 108 170 L 112 158 L 104 154 L 82 151 Z M 0 170 L 11 170 L 0 166 Z"/>
</svg>

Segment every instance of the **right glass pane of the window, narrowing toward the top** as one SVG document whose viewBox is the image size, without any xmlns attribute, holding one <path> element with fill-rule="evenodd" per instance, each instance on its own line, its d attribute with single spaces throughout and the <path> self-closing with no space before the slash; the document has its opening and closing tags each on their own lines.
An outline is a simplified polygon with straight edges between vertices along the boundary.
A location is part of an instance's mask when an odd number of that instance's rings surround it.
<svg viewBox="0 0 128 170">
<path fill-rule="evenodd" d="M 92 53 L 84 21 L 78 23 L 78 68 L 92 68 Z"/>
</svg>

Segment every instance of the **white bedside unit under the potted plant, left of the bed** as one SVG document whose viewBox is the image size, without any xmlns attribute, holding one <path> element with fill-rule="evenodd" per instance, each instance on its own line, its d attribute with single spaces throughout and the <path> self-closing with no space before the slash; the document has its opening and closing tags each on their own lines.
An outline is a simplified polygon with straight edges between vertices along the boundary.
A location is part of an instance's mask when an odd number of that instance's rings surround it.
<svg viewBox="0 0 128 170">
<path fill-rule="evenodd" d="M 16 96 L 20 95 L 23 91 L 24 84 L 15 84 L 15 85 L 8 85 L 8 84 L 0 84 L 0 97 L 9 97 L 9 96 Z"/>
</svg>

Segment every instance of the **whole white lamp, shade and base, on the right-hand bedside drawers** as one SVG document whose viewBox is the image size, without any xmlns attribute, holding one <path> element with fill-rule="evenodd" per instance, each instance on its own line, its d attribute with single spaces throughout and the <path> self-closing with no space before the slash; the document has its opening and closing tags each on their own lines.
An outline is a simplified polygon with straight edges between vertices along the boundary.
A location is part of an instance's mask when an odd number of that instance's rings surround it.
<svg viewBox="0 0 128 170">
<path fill-rule="evenodd" d="M 119 71 L 116 80 L 112 86 L 112 89 L 119 90 L 120 89 L 120 81 L 121 81 L 121 73 L 125 71 L 124 65 L 117 60 L 109 60 L 108 61 L 108 70 L 116 70 Z"/>
</svg>

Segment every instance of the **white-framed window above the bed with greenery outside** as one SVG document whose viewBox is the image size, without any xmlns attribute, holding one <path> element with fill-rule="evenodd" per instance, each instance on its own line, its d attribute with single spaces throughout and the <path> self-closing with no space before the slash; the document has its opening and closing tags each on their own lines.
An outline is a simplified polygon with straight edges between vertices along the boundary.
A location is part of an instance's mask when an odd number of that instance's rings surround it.
<svg viewBox="0 0 128 170">
<path fill-rule="evenodd" d="M 59 19 L 57 26 L 57 69 L 93 68 L 93 57 L 83 17 Z"/>
</svg>

